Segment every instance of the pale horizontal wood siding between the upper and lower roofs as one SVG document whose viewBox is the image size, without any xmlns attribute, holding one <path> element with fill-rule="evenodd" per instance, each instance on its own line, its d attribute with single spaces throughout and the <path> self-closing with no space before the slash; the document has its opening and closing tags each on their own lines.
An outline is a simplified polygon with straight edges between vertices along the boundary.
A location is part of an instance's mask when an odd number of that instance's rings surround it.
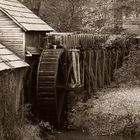
<svg viewBox="0 0 140 140">
<path fill-rule="evenodd" d="M 6 14 L 0 11 L 0 42 L 24 58 L 24 32 Z"/>
</svg>

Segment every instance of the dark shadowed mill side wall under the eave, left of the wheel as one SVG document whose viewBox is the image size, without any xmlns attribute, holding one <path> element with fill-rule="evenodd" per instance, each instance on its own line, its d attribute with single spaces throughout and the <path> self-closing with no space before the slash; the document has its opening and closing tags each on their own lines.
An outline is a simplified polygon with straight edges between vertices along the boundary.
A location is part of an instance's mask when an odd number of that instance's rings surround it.
<svg viewBox="0 0 140 140">
<path fill-rule="evenodd" d="M 39 62 L 39 56 L 36 52 L 42 47 L 42 39 L 45 32 L 26 32 L 25 33 L 25 46 L 26 49 L 32 54 L 32 57 L 26 57 L 26 62 L 30 65 L 27 71 L 25 83 L 25 102 L 32 104 L 32 113 L 36 114 L 36 77 Z M 30 49 L 29 49 L 30 48 Z"/>
</svg>

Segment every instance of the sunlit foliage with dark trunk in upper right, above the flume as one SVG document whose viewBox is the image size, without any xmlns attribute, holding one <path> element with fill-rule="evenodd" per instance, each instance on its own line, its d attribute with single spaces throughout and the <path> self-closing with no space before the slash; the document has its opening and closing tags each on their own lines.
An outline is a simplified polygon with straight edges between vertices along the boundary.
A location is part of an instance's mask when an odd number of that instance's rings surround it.
<svg viewBox="0 0 140 140">
<path fill-rule="evenodd" d="M 122 28 L 123 19 L 138 17 L 140 2 L 138 0 L 91 0 L 83 17 L 84 29 L 103 32 Z"/>
</svg>

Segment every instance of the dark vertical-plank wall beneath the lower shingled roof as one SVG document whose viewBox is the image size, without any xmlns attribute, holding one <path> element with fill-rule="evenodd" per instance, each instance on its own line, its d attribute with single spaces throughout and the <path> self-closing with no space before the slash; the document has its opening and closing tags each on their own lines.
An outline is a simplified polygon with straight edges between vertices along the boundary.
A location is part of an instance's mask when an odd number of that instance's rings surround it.
<svg viewBox="0 0 140 140">
<path fill-rule="evenodd" d="M 0 72 L 0 131 L 9 136 L 23 116 L 23 76 L 24 68 Z"/>
</svg>

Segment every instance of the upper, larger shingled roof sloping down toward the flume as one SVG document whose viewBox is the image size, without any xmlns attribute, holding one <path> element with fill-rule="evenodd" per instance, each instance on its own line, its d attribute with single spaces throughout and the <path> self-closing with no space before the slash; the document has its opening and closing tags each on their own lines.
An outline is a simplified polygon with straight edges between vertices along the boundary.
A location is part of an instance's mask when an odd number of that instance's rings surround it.
<svg viewBox="0 0 140 140">
<path fill-rule="evenodd" d="M 0 10 L 24 31 L 53 31 L 53 28 L 17 0 L 0 0 Z"/>
</svg>

